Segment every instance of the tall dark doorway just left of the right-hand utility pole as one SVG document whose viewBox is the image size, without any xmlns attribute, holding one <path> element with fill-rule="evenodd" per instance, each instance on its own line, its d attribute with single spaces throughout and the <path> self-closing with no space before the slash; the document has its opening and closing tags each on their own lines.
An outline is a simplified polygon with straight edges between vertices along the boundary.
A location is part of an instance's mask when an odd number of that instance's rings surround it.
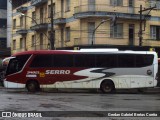
<svg viewBox="0 0 160 120">
<path fill-rule="evenodd" d="M 134 45 L 134 24 L 129 25 L 129 45 Z"/>
</svg>

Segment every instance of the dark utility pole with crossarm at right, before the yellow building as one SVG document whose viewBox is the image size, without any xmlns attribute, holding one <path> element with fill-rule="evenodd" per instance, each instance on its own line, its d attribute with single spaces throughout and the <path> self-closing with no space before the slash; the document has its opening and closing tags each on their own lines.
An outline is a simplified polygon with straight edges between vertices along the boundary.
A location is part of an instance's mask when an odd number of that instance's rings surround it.
<svg viewBox="0 0 160 120">
<path fill-rule="evenodd" d="M 151 12 L 151 10 L 153 10 L 154 8 L 156 8 L 156 6 L 154 7 L 150 7 L 150 8 L 146 8 L 146 9 L 143 9 L 142 10 L 142 5 L 140 5 L 140 11 L 139 11 L 139 14 L 140 14 L 140 24 L 139 24 L 139 46 L 142 46 L 142 40 L 143 40 L 143 30 L 142 30 L 142 24 L 143 24 L 143 21 L 145 20 L 145 16 L 144 18 L 142 19 L 142 13 L 145 12 L 145 11 L 149 11 L 148 14 Z M 148 15 L 147 14 L 147 15 Z"/>
</svg>

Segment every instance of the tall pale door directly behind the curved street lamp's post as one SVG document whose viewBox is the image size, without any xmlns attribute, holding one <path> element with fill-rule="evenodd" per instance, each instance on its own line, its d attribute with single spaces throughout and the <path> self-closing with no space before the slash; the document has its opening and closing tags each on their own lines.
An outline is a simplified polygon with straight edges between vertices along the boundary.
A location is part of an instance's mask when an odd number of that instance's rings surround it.
<svg viewBox="0 0 160 120">
<path fill-rule="evenodd" d="M 95 43 L 95 33 L 93 31 L 95 29 L 95 22 L 88 23 L 88 44 Z"/>
</svg>

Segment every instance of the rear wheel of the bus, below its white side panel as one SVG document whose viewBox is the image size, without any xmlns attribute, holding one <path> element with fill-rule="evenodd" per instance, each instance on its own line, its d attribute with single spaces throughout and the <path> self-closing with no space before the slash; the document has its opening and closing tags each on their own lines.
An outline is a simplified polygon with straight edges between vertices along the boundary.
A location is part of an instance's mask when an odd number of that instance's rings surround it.
<svg viewBox="0 0 160 120">
<path fill-rule="evenodd" d="M 103 81 L 100 89 L 103 93 L 112 93 L 115 90 L 115 86 L 112 81 Z"/>
</svg>

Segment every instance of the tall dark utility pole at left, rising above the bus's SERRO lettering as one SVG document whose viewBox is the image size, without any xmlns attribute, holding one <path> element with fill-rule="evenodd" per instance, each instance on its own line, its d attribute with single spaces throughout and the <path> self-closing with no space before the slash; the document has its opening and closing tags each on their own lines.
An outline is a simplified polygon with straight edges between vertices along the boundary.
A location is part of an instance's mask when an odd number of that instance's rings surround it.
<svg viewBox="0 0 160 120">
<path fill-rule="evenodd" d="M 55 34 L 54 34 L 54 19 L 53 19 L 53 0 L 51 0 L 51 34 L 50 34 L 50 46 L 51 50 L 54 50 L 54 43 L 55 43 Z"/>
</svg>

